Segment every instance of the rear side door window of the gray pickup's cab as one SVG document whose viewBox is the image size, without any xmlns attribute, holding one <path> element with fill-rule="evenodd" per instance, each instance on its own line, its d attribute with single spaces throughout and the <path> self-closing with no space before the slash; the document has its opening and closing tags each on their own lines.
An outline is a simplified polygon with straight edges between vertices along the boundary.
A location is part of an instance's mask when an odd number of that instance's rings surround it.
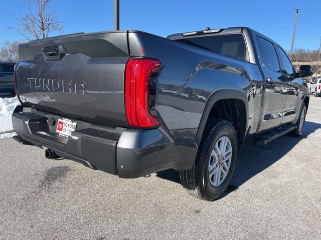
<svg viewBox="0 0 321 240">
<path fill-rule="evenodd" d="M 279 60 L 277 58 L 273 43 L 259 36 L 257 38 L 260 44 L 264 63 L 272 70 L 278 71 L 280 69 Z"/>
</svg>

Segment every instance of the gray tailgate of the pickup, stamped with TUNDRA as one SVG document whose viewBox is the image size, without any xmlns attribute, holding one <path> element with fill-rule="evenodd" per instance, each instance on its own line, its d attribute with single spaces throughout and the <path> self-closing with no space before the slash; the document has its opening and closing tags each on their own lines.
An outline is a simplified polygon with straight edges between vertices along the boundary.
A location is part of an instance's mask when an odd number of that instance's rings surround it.
<svg viewBox="0 0 321 240">
<path fill-rule="evenodd" d="M 26 106 L 106 126 L 127 126 L 127 32 L 98 32 L 19 46 L 16 86 Z"/>
</svg>

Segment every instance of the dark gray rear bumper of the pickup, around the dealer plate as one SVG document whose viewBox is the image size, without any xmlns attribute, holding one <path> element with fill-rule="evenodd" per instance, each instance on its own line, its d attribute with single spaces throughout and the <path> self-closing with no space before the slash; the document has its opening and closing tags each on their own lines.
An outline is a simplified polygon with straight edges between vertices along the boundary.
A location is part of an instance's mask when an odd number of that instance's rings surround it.
<svg viewBox="0 0 321 240">
<path fill-rule="evenodd" d="M 188 169 L 196 157 L 196 129 L 170 132 L 162 126 L 149 130 L 109 128 L 77 120 L 76 131 L 65 138 L 55 133 L 56 125 L 48 124 L 58 118 L 61 116 L 23 106 L 17 106 L 12 117 L 15 131 L 26 143 L 119 177 Z"/>
</svg>

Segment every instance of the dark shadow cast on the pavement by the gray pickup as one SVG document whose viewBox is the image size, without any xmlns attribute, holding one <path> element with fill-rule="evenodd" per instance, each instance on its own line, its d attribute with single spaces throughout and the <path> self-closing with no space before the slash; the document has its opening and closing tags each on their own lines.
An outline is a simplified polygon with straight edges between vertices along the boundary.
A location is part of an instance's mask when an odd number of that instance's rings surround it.
<svg viewBox="0 0 321 240">
<path fill-rule="evenodd" d="M 266 145 L 256 145 L 253 143 L 254 138 L 249 137 L 244 142 L 242 149 L 238 152 L 233 178 L 225 193 L 220 198 L 223 198 L 230 192 L 236 190 L 244 182 L 272 165 L 289 152 L 300 140 L 306 138 L 318 128 L 321 128 L 321 124 L 306 121 L 302 136 L 291 137 L 284 135 Z M 156 176 L 181 183 L 180 173 L 174 169 L 157 172 Z"/>
</svg>

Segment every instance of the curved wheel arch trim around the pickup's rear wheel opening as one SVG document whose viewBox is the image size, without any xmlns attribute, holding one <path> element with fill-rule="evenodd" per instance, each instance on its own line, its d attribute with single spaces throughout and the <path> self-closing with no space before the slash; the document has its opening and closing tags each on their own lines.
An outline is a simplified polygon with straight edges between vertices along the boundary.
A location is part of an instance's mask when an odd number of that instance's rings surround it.
<svg viewBox="0 0 321 240">
<path fill-rule="evenodd" d="M 214 91 L 211 96 L 209 97 L 204 111 L 203 115 L 201 117 L 201 121 L 196 133 L 196 144 L 199 146 L 203 137 L 203 132 L 206 126 L 206 123 L 210 117 L 210 113 L 213 109 L 213 106 L 218 103 L 221 100 L 237 100 L 242 103 L 242 109 L 243 111 L 240 111 L 241 117 L 242 117 L 242 122 L 243 124 L 241 125 L 241 139 L 239 141 L 239 148 L 242 146 L 247 129 L 248 129 L 248 98 L 247 94 L 245 91 L 239 88 L 223 88 L 223 89 L 218 89 Z M 245 111 L 245 112 L 244 112 Z"/>
</svg>

